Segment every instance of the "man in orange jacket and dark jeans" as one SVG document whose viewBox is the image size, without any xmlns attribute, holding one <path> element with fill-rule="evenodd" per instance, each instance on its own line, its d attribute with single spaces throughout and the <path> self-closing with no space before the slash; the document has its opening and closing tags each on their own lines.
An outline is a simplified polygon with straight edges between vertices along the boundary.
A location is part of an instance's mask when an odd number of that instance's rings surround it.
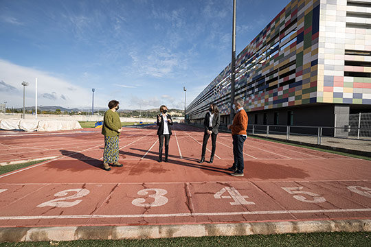
<svg viewBox="0 0 371 247">
<path fill-rule="evenodd" d="M 234 163 L 228 169 L 233 172 L 232 176 L 243 176 L 243 143 L 247 137 L 246 130 L 249 119 L 243 109 L 243 99 L 236 99 L 232 107 L 236 110 L 236 115 L 232 125 L 229 124 L 228 128 L 232 130 Z"/>
</svg>

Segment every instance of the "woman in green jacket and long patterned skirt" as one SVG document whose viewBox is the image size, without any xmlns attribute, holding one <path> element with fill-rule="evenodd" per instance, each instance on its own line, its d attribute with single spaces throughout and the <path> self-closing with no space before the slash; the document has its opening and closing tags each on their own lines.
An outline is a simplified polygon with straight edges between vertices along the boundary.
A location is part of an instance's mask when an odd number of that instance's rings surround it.
<svg viewBox="0 0 371 247">
<path fill-rule="evenodd" d="M 122 131 L 120 116 L 116 113 L 119 109 L 119 102 L 111 100 L 109 102 L 109 110 L 104 113 L 102 134 L 104 135 L 104 153 L 103 153 L 103 169 L 111 171 L 111 167 L 122 167 L 118 163 L 119 159 L 119 136 Z"/>
</svg>

